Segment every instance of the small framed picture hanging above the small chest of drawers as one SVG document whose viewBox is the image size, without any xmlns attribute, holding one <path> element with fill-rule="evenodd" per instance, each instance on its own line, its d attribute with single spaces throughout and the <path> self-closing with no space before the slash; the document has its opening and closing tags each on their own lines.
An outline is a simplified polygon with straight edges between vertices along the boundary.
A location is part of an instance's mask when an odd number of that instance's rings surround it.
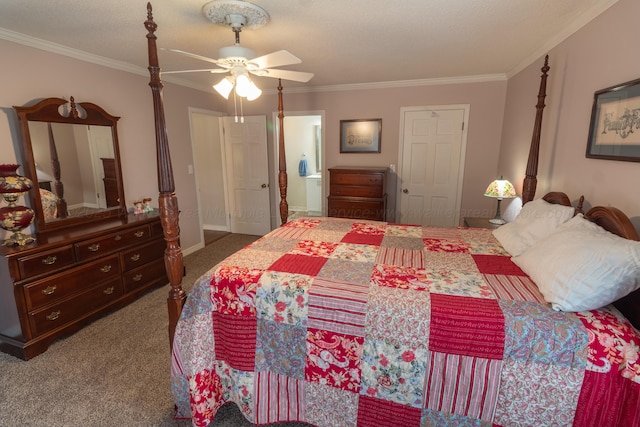
<svg viewBox="0 0 640 427">
<path fill-rule="evenodd" d="M 340 120 L 341 153 L 380 153 L 382 119 Z"/>
</svg>

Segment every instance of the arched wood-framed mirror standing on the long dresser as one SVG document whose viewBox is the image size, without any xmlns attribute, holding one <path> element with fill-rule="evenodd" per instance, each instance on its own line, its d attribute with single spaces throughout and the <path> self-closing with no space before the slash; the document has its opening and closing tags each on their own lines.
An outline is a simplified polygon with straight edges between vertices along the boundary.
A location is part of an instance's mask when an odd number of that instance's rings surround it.
<svg viewBox="0 0 640 427">
<path fill-rule="evenodd" d="M 14 109 L 24 174 L 34 182 L 28 195 L 38 233 L 126 215 L 119 117 L 73 97 Z"/>
</svg>

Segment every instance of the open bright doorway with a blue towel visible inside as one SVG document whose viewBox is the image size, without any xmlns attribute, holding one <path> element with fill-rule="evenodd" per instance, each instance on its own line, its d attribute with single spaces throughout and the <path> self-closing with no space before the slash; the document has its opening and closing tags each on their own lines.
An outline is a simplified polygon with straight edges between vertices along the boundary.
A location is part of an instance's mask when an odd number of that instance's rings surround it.
<svg viewBox="0 0 640 427">
<path fill-rule="evenodd" d="M 278 123 L 275 120 L 274 123 Z M 286 112 L 284 144 L 287 159 L 287 203 L 289 219 L 321 216 L 324 212 L 324 112 Z M 275 141 L 278 141 L 276 129 Z M 275 153 L 278 182 L 278 147 Z M 274 206 L 280 203 L 276 192 Z"/>
</svg>

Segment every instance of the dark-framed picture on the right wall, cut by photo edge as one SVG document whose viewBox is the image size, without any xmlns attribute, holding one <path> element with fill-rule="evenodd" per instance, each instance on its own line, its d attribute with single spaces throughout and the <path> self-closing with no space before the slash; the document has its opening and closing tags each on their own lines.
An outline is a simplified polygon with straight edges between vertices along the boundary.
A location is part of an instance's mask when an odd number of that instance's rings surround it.
<svg viewBox="0 0 640 427">
<path fill-rule="evenodd" d="M 595 92 L 586 157 L 640 162 L 640 79 Z"/>
</svg>

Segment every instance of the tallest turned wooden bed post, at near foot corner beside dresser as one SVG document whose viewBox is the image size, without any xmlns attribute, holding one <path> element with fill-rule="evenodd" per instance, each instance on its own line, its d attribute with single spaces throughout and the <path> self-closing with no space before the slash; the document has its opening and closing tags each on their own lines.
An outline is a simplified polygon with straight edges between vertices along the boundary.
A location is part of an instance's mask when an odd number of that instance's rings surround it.
<svg viewBox="0 0 640 427">
<path fill-rule="evenodd" d="M 153 95 L 153 113 L 156 127 L 156 157 L 158 164 L 158 206 L 160 208 L 160 221 L 164 240 L 167 248 L 164 251 L 164 264 L 171 284 L 167 307 L 169 310 L 169 345 L 173 345 L 173 335 L 176 330 L 180 312 L 186 299 L 186 293 L 182 289 L 182 276 L 184 266 L 182 251 L 180 249 L 180 227 L 178 224 L 178 198 L 175 194 L 173 182 L 173 169 L 169 153 L 169 140 L 167 138 L 167 126 L 164 117 L 164 105 L 162 102 L 162 81 L 160 80 L 160 66 L 158 65 L 158 50 L 156 47 L 155 31 L 158 28 L 153 22 L 151 3 L 147 3 L 147 20 L 144 23 L 147 29 L 147 45 L 149 50 L 149 74 L 151 81 L 151 93 Z"/>
</svg>

